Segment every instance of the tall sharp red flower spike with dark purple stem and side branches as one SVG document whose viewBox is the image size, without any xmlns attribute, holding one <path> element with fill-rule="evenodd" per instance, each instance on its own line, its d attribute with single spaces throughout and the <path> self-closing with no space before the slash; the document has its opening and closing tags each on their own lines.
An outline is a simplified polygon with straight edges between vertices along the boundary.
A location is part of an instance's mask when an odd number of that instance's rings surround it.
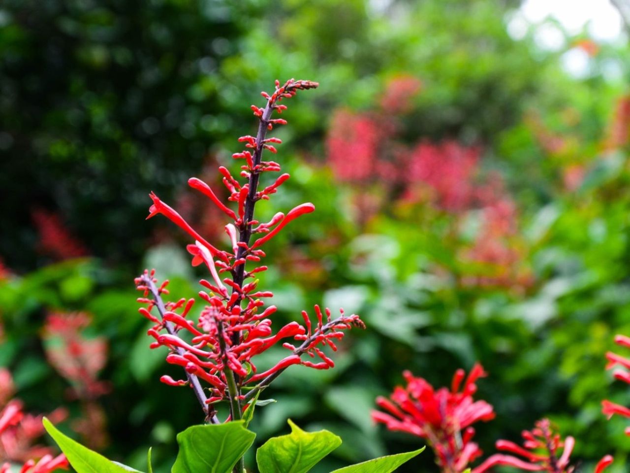
<svg viewBox="0 0 630 473">
<path fill-rule="evenodd" d="M 223 184 L 230 194 L 228 201 L 236 203 L 236 210 L 224 204 L 202 180 L 194 177 L 188 180 L 190 187 L 207 196 L 212 204 L 231 219 L 225 226 L 231 242 L 229 250 L 221 250 L 205 240 L 180 214 L 151 193 L 153 205 L 148 218 L 163 214 L 186 231 L 194 241 L 187 247 L 193 257 L 193 266 L 205 264 L 212 277 L 210 281 L 200 281 L 203 288 L 207 289 L 199 293 L 206 305 L 195 322 L 186 318 L 195 300 L 164 302 L 162 296 L 168 294 L 168 281 L 159 284 L 154 271 L 145 271 L 135 279 L 137 288 L 144 293 L 138 301 L 146 305 L 140 308 L 140 313 L 154 323 L 148 331 L 149 336 L 155 339 L 151 347 L 168 347 L 170 352 L 166 361 L 181 366 L 186 373 L 185 379 L 174 380 L 163 376 L 162 382 L 192 387 L 210 423 L 219 423 L 215 403 L 221 400 L 229 401 L 228 420 L 241 419 L 244 405 L 255 399 L 261 390 L 291 365 L 304 365 L 318 370 L 333 367 L 333 360 L 320 347 L 329 346 L 335 351 L 335 342 L 343 337 L 340 330 L 353 325 L 364 327 L 357 315 L 348 316 L 341 310 L 340 317 L 333 319 L 328 308 L 322 311 L 315 306 L 315 323 L 311 322 L 306 312 L 302 312 L 304 325 L 290 322 L 273 334 L 270 316 L 276 307 L 270 305 L 265 308 L 262 301 L 273 294 L 258 289 L 259 281 L 256 279 L 256 274 L 267 269 L 266 266 L 258 266 L 258 262 L 265 257 L 262 249 L 265 243 L 288 223 L 315 209 L 313 204 L 306 203 L 287 214 L 279 212 L 266 223 L 254 219 L 256 202 L 269 199 L 289 179 L 289 174 L 284 173 L 272 184 L 259 189 L 263 173 L 280 171 L 278 163 L 262 160 L 263 151 L 276 153 L 274 145 L 281 143 L 276 137 L 266 137 L 266 132 L 287 123 L 284 119 L 272 118 L 272 115 L 274 112 L 280 114 L 287 108 L 280 104 L 284 98 L 294 96 L 298 90 L 317 86 L 318 83 L 311 81 L 290 79 L 284 85 L 276 81 L 272 95 L 262 93 L 266 100 L 265 107 L 251 106 L 254 115 L 260 120 L 258 134 L 241 136 L 239 141 L 244 143 L 246 149 L 232 155 L 244 161 L 240 175 L 246 182 L 239 182 L 227 168 L 219 167 Z M 252 237 L 257 238 L 252 241 Z M 248 264 L 255 267 L 248 267 Z M 222 273 L 228 277 L 222 277 Z M 253 281 L 246 282 L 250 278 Z M 154 308 L 158 316 L 152 313 Z M 289 350 L 288 356 L 269 370 L 259 372 L 253 358 L 278 343 Z M 305 354 L 317 361 L 302 359 Z M 201 381 L 209 387 L 202 388 Z"/>
</svg>

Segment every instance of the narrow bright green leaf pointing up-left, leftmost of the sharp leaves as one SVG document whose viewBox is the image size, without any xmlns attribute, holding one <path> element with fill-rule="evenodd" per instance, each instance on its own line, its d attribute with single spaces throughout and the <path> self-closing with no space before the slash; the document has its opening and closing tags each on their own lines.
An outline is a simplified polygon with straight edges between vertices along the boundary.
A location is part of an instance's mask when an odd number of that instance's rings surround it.
<svg viewBox="0 0 630 473">
<path fill-rule="evenodd" d="M 62 452 L 66 454 L 68 461 L 77 473 L 127 473 L 136 472 L 127 465 L 118 464 L 93 452 L 70 437 L 62 434 L 47 418 L 43 418 L 43 426 L 49 435 L 57 442 Z"/>
</svg>

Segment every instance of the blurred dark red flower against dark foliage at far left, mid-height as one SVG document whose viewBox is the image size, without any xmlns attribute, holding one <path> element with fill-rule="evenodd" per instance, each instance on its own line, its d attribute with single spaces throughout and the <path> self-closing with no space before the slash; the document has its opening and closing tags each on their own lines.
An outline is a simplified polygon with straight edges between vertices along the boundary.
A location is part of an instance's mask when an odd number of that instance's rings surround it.
<svg viewBox="0 0 630 473">
<path fill-rule="evenodd" d="M 31 213 L 39 235 L 40 252 L 55 260 L 80 258 L 89 254 L 88 249 L 70 233 L 59 215 L 35 209 Z"/>
</svg>

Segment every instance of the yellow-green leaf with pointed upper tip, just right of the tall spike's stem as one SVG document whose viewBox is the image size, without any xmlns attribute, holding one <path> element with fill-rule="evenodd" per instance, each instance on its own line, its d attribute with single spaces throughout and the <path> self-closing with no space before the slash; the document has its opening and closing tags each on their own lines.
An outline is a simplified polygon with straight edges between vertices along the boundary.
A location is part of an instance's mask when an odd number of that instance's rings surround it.
<svg viewBox="0 0 630 473">
<path fill-rule="evenodd" d="M 341 445 L 341 438 L 321 430 L 305 432 L 290 419 L 291 433 L 270 438 L 256 452 L 260 473 L 305 473 Z"/>
</svg>

